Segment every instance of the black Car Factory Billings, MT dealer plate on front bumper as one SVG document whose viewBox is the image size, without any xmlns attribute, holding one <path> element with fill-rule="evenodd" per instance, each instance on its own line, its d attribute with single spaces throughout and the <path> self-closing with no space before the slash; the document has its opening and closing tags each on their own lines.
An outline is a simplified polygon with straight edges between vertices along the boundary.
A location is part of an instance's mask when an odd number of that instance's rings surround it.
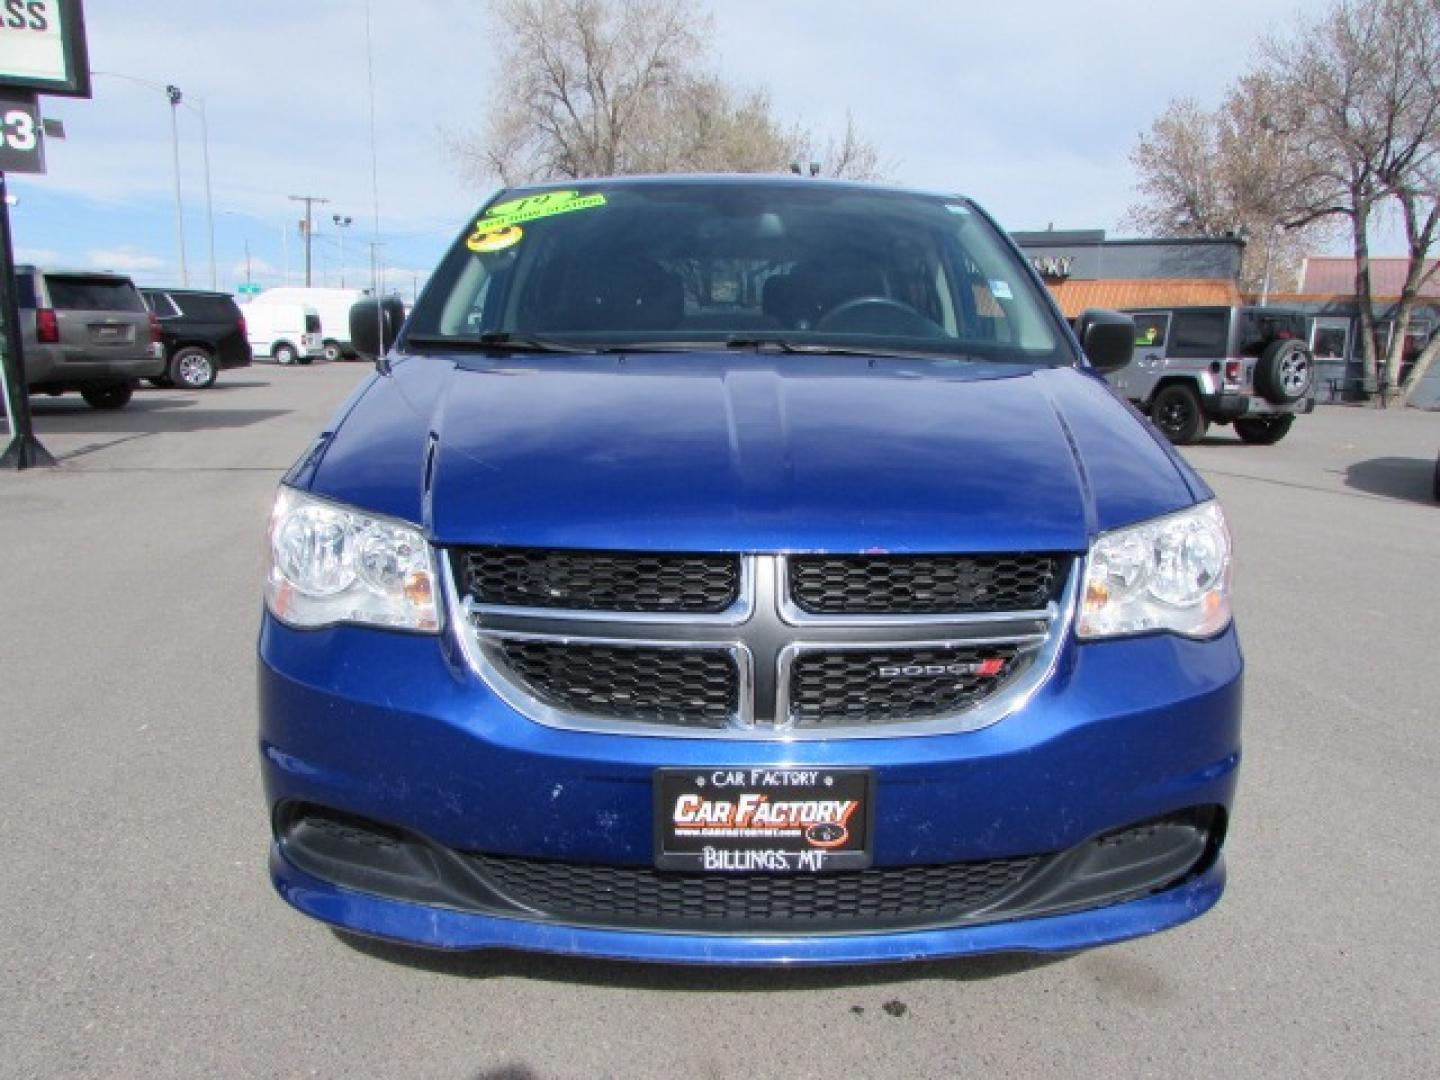
<svg viewBox="0 0 1440 1080">
<path fill-rule="evenodd" d="M 870 865 L 868 769 L 660 769 L 655 865 L 815 873 Z"/>
</svg>

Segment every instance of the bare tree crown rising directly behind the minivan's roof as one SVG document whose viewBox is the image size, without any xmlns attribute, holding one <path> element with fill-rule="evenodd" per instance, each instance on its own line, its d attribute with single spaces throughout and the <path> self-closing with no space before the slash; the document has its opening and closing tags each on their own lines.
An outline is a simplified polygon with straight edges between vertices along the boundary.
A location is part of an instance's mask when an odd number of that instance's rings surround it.
<svg viewBox="0 0 1440 1080">
<path fill-rule="evenodd" d="M 503 76 L 481 132 L 446 138 L 477 183 L 626 173 L 785 171 L 815 143 L 763 89 L 711 69 L 710 19 L 684 0 L 497 0 Z M 878 151 L 847 122 L 825 171 L 877 179 Z"/>
</svg>

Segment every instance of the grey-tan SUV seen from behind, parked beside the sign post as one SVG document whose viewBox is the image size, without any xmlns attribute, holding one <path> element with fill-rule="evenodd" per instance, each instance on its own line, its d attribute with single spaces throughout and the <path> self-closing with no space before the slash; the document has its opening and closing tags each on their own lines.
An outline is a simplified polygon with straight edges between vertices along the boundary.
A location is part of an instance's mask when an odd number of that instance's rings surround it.
<svg viewBox="0 0 1440 1080">
<path fill-rule="evenodd" d="M 160 324 L 120 274 L 16 266 L 32 393 L 79 390 L 95 409 L 122 409 L 137 379 L 166 369 Z"/>
</svg>

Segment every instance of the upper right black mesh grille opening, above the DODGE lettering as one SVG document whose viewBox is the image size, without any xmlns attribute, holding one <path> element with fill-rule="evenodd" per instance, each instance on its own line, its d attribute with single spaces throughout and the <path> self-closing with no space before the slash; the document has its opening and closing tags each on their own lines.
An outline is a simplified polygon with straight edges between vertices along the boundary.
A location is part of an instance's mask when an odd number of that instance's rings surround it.
<svg viewBox="0 0 1440 1080">
<path fill-rule="evenodd" d="M 811 615 L 1038 611 L 1064 564 L 1050 554 L 795 556 L 791 598 Z"/>
</svg>

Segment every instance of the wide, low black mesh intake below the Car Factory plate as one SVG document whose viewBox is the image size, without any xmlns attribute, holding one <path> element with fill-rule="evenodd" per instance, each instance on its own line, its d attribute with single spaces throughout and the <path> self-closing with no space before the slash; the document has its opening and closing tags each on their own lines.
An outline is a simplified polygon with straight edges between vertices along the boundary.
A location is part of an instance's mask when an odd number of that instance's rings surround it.
<svg viewBox="0 0 1440 1080">
<path fill-rule="evenodd" d="M 468 855 L 513 901 L 566 922 L 661 929 L 924 926 L 971 914 L 1041 861 L 996 858 L 840 874 L 674 874 Z"/>
</svg>

